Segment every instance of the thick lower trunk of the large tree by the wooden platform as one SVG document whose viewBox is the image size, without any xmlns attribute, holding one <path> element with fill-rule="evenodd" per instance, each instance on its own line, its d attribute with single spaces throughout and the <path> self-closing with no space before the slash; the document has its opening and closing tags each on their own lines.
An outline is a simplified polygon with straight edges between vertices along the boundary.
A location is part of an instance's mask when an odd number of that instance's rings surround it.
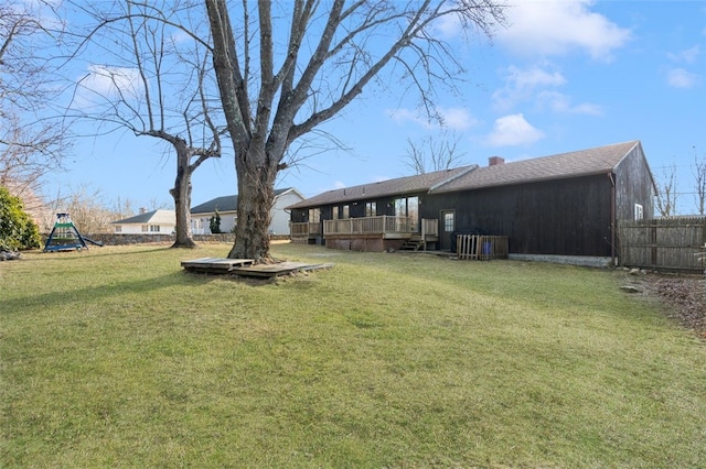
<svg viewBox="0 0 706 469">
<path fill-rule="evenodd" d="M 256 153 L 253 155 L 253 153 Z M 238 173 L 238 219 L 235 243 L 229 259 L 253 259 L 255 263 L 269 263 L 269 223 L 275 201 L 277 165 L 263 162 L 260 151 L 249 151 L 236 157 Z M 258 162 L 265 164 L 258 165 Z"/>
</svg>

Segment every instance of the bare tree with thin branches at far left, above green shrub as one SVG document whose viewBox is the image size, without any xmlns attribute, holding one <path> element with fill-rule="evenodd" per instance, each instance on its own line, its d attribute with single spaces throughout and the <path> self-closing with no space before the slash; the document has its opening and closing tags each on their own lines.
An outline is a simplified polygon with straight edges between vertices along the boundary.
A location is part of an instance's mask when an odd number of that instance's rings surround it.
<svg viewBox="0 0 706 469">
<path fill-rule="evenodd" d="M 61 168 L 69 149 L 61 112 L 50 109 L 61 91 L 46 53 L 63 36 L 43 2 L 0 0 L 0 184 L 39 209 L 41 178 Z"/>
</svg>

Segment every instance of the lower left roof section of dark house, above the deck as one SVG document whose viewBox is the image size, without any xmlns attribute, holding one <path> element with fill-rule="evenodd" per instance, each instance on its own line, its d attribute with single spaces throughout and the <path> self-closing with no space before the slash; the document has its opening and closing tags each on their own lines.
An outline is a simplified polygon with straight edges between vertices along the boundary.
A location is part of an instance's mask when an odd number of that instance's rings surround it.
<svg viewBox="0 0 706 469">
<path fill-rule="evenodd" d="M 398 177 L 395 179 L 381 181 L 378 183 L 329 190 L 295 205 L 290 205 L 287 209 L 338 204 L 347 200 L 360 200 L 361 198 L 375 198 L 428 192 L 432 187 L 436 187 L 443 182 L 452 181 L 475 167 L 478 166 L 462 166 L 452 170 L 435 171 L 432 173 L 417 174 L 415 176 Z"/>
</svg>

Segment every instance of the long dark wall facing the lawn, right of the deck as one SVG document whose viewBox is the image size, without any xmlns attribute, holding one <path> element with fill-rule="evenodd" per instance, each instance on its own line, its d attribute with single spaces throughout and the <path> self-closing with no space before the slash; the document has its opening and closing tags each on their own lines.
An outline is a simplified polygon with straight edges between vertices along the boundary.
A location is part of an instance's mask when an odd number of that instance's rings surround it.
<svg viewBox="0 0 706 469">
<path fill-rule="evenodd" d="M 507 236 L 511 253 L 609 257 L 607 175 L 427 195 L 424 218 L 456 209 L 457 230 Z"/>
</svg>

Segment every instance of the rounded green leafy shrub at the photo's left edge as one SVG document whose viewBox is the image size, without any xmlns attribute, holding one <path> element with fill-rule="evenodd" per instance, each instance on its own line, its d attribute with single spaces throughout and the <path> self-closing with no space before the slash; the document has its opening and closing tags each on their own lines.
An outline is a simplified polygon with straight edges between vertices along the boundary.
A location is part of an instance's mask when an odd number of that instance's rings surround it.
<svg viewBox="0 0 706 469">
<path fill-rule="evenodd" d="M 25 250 L 40 244 L 39 227 L 24 211 L 22 200 L 0 186 L 0 249 Z"/>
</svg>

